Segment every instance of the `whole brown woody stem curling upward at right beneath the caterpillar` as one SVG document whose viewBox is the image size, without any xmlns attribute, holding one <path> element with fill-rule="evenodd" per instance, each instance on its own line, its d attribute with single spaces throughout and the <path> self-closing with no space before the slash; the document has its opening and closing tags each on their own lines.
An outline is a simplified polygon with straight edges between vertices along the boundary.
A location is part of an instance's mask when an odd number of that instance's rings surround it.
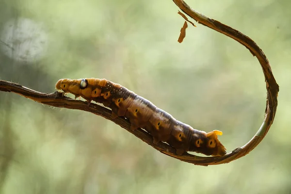
<svg viewBox="0 0 291 194">
<path fill-rule="evenodd" d="M 232 29 L 229 26 L 226 26 L 219 21 L 214 19 L 210 19 L 207 16 L 204 16 L 192 8 L 190 8 L 183 0 L 173 0 L 176 5 L 188 16 L 195 19 L 197 22 L 217 31 L 229 36 L 242 45 L 244 45 L 250 52 L 256 56 L 259 60 L 260 65 L 262 66 L 263 73 L 265 75 L 265 81 L 267 85 L 267 105 L 265 110 L 265 118 L 263 121 L 262 126 L 256 133 L 256 135 L 244 146 L 239 147 L 233 150 L 231 153 L 226 154 L 223 157 L 200 157 L 195 156 L 189 153 L 184 153 L 182 156 L 176 155 L 175 148 L 160 142 L 158 145 L 153 144 L 152 136 L 149 135 L 143 129 L 136 129 L 130 130 L 130 123 L 124 117 L 118 117 L 116 119 L 111 118 L 111 111 L 105 107 L 99 106 L 97 104 L 91 103 L 90 106 L 87 105 L 86 102 L 81 100 L 74 100 L 69 97 L 64 97 L 63 93 L 61 92 L 54 92 L 50 94 L 40 93 L 29 88 L 23 87 L 13 82 L 9 81 L 0 81 L 0 91 L 4 92 L 14 92 L 21 96 L 30 98 L 36 102 L 40 102 L 42 104 L 47 104 L 54 107 L 64 107 L 68 109 L 78 109 L 90 113 L 94 113 L 100 115 L 108 120 L 113 121 L 117 125 L 121 126 L 122 128 L 128 130 L 130 133 L 134 134 L 136 137 L 140 138 L 148 145 L 154 147 L 155 149 L 159 150 L 163 154 L 176 158 L 178 160 L 193 163 L 196 165 L 214 165 L 214 164 L 222 164 L 234 161 L 242 156 L 248 154 L 251 150 L 253 150 L 261 140 L 265 137 L 268 130 L 270 129 L 277 107 L 277 94 L 279 92 L 279 86 L 277 85 L 275 78 L 273 76 L 271 67 L 269 62 L 263 53 L 263 51 L 259 48 L 259 46 L 251 40 L 246 35 L 242 34 L 241 32 Z"/>
</svg>

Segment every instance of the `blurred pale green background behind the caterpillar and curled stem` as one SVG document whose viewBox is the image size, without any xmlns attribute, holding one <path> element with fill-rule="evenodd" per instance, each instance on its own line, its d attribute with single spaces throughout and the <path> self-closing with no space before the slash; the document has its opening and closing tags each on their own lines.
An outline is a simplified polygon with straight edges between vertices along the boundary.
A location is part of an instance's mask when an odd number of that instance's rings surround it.
<svg viewBox="0 0 291 194">
<path fill-rule="evenodd" d="M 291 1 L 188 0 L 245 33 L 280 86 L 275 122 L 245 157 L 195 166 L 100 116 L 0 92 L 2 194 L 291 193 Z M 242 45 L 184 20 L 171 0 L 0 0 L 0 79 L 54 92 L 62 78 L 106 78 L 178 120 L 222 130 L 227 151 L 259 129 L 266 89 Z M 70 97 L 70 95 L 68 95 Z"/>
</svg>

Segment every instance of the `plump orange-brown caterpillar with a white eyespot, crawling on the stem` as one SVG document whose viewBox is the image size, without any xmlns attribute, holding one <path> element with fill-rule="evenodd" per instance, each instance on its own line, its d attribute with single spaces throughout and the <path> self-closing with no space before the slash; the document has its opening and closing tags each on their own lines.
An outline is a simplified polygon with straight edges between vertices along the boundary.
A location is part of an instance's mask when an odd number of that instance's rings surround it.
<svg viewBox="0 0 291 194">
<path fill-rule="evenodd" d="M 219 130 L 205 132 L 176 120 L 171 114 L 156 107 L 149 100 L 138 96 L 126 87 L 106 79 L 61 79 L 57 90 L 83 97 L 87 102 L 96 101 L 112 110 L 112 117 L 126 117 L 130 129 L 145 129 L 153 137 L 153 143 L 166 142 L 176 149 L 177 155 L 187 151 L 207 156 L 224 156 L 226 148 L 220 143 Z"/>
</svg>

